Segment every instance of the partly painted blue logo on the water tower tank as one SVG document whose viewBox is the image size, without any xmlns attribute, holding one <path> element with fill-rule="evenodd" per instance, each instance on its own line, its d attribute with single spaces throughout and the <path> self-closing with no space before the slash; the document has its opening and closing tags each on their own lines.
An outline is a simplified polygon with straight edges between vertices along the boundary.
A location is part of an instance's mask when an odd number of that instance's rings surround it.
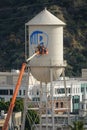
<svg viewBox="0 0 87 130">
<path fill-rule="evenodd" d="M 43 31 L 34 31 L 30 35 L 30 46 L 32 48 L 33 53 L 35 52 L 35 47 L 38 45 L 44 45 L 47 48 L 48 45 L 48 35 Z"/>
</svg>

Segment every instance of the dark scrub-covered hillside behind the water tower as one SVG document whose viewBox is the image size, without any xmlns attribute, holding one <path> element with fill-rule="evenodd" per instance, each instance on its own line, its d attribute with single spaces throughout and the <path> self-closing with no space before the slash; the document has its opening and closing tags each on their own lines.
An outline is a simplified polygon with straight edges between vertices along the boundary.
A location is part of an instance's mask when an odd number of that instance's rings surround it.
<svg viewBox="0 0 87 130">
<path fill-rule="evenodd" d="M 87 68 L 86 0 L 1 0 L 0 2 L 0 71 L 20 69 L 24 62 L 25 23 L 44 7 L 66 23 L 64 59 L 66 75 L 80 76 Z"/>
</svg>

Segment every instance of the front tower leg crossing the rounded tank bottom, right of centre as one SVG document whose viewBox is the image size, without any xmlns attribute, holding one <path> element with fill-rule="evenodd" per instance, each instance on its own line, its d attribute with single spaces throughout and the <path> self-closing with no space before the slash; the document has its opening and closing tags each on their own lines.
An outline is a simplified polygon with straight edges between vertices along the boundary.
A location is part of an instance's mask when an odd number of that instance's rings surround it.
<svg viewBox="0 0 87 130">
<path fill-rule="evenodd" d="M 50 94 L 51 94 L 51 109 L 52 109 L 52 130 L 54 130 L 54 98 L 53 98 L 53 69 L 50 68 Z"/>
</svg>

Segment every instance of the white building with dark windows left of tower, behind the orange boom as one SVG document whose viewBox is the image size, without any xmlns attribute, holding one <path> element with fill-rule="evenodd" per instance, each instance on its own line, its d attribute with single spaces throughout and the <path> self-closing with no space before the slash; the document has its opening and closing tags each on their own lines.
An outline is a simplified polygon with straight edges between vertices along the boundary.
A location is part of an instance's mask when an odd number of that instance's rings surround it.
<svg viewBox="0 0 87 130">
<path fill-rule="evenodd" d="M 17 84 L 18 76 L 18 70 L 12 70 L 11 72 L 0 72 L 0 100 L 10 101 Z M 32 75 L 30 75 L 29 78 L 30 80 L 28 79 L 28 74 L 25 72 L 17 98 L 24 98 L 26 87 L 29 84 L 32 86 L 35 82 Z"/>
</svg>

